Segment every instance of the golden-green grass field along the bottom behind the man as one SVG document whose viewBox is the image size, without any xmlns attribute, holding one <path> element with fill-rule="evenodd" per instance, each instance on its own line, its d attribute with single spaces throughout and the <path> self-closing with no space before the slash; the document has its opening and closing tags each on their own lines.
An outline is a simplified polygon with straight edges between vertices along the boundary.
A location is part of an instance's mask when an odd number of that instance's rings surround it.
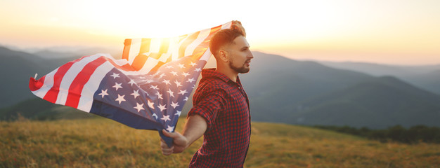
<svg viewBox="0 0 440 168">
<path fill-rule="evenodd" d="M 0 134 L 0 167 L 187 167 L 202 143 L 164 156 L 157 132 L 104 118 L 0 122 Z M 252 123 L 245 167 L 440 167 L 440 145 L 380 143 L 310 127 Z"/>
</svg>

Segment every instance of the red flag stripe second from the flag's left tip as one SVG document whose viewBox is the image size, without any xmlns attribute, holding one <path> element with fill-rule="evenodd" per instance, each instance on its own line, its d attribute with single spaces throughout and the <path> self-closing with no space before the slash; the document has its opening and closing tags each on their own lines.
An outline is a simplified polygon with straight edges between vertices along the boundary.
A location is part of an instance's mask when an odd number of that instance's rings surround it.
<svg viewBox="0 0 440 168">
<path fill-rule="evenodd" d="M 56 98 L 58 97 L 58 93 L 60 92 L 60 84 L 63 80 L 63 77 L 65 73 L 70 69 L 70 67 L 75 63 L 79 62 L 84 57 L 81 57 L 79 59 L 75 59 L 72 62 L 67 62 L 67 64 L 63 64 L 63 66 L 60 66 L 58 70 L 56 71 L 55 75 L 53 75 L 53 86 L 51 90 L 48 90 L 46 95 L 44 95 L 43 99 L 47 100 L 48 102 L 55 103 Z"/>
</svg>

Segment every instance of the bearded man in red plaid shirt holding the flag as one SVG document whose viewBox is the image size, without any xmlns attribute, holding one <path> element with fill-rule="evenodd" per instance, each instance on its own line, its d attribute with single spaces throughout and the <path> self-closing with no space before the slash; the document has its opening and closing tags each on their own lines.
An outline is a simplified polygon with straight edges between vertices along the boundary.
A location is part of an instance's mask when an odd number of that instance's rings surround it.
<svg viewBox="0 0 440 168">
<path fill-rule="evenodd" d="M 202 70 L 182 134 L 162 131 L 174 140 L 171 148 L 162 140 L 164 155 L 181 153 L 203 135 L 203 145 L 189 167 L 243 167 L 250 142 L 250 109 L 238 73 L 250 71 L 254 57 L 245 36 L 241 23 L 234 21 L 231 29 L 211 38 L 209 48 L 217 67 Z"/>
</svg>

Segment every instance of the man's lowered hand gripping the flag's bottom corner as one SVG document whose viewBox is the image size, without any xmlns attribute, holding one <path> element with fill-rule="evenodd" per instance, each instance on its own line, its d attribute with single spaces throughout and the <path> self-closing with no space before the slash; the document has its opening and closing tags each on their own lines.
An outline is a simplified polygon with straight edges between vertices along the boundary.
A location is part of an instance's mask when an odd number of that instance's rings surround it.
<svg viewBox="0 0 440 168">
<path fill-rule="evenodd" d="M 181 153 L 188 147 L 188 140 L 179 132 L 167 132 L 165 130 L 162 130 L 162 132 L 165 136 L 173 139 L 173 146 L 171 148 L 168 147 L 163 139 L 160 139 L 160 147 L 162 148 L 163 155 Z"/>
</svg>

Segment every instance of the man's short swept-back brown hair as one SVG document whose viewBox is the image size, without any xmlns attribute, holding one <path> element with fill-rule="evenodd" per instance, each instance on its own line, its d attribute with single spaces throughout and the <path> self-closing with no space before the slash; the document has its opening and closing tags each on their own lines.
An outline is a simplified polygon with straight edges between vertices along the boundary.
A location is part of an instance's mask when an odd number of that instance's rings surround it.
<svg viewBox="0 0 440 168">
<path fill-rule="evenodd" d="M 233 21 L 230 29 L 222 29 L 212 36 L 209 41 L 209 50 L 216 57 L 221 47 L 233 43 L 238 36 L 246 36 L 246 31 L 240 21 Z"/>
</svg>

